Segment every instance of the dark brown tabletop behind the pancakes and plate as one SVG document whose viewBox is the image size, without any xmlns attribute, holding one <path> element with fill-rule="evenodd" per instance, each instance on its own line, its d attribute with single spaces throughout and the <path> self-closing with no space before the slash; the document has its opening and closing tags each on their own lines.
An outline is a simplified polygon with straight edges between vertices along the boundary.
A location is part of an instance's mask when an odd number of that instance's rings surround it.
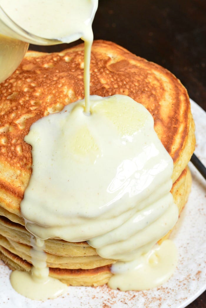
<svg viewBox="0 0 206 308">
<path fill-rule="evenodd" d="M 99 0 L 93 30 L 94 39 L 166 67 L 206 111 L 206 0 Z M 40 51 L 67 47 L 30 45 Z M 206 308 L 206 292 L 187 307 Z"/>
</svg>

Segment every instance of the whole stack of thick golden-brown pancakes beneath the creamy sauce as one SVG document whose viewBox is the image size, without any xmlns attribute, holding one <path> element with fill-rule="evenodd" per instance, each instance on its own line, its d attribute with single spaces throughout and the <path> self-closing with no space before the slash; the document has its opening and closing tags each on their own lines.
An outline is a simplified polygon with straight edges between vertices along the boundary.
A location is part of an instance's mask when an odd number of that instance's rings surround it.
<svg viewBox="0 0 206 308">
<path fill-rule="evenodd" d="M 20 212 L 32 173 L 31 146 L 24 136 L 36 120 L 84 97 L 83 69 L 83 44 L 60 53 L 29 51 L 0 84 L 0 256 L 12 270 L 29 272 L 32 266 L 31 235 Z M 153 116 L 155 131 L 174 161 L 171 192 L 181 212 L 191 187 L 187 163 L 195 147 L 186 89 L 166 69 L 101 40 L 93 44 L 90 72 L 91 95 L 128 95 Z M 44 250 L 50 276 L 68 285 L 97 286 L 112 275 L 115 261 L 103 259 L 86 242 L 51 238 Z"/>
</svg>

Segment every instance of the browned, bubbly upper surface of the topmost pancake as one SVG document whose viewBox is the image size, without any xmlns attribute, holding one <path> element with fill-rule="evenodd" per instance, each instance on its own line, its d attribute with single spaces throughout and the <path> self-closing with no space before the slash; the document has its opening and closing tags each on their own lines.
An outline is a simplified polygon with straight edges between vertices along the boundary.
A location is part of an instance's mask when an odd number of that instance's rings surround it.
<svg viewBox="0 0 206 308">
<path fill-rule="evenodd" d="M 19 211 L 31 175 L 31 146 L 23 138 L 36 120 L 84 97 L 83 57 L 83 44 L 60 53 L 29 51 L 0 84 L 0 202 L 12 212 Z M 161 66 L 102 40 L 93 44 L 90 73 L 91 95 L 128 95 L 149 110 L 158 137 L 176 163 L 191 127 L 194 131 L 180 81 Z M 189 156 L 193 150 L 194 145 Z"/>
</svg>

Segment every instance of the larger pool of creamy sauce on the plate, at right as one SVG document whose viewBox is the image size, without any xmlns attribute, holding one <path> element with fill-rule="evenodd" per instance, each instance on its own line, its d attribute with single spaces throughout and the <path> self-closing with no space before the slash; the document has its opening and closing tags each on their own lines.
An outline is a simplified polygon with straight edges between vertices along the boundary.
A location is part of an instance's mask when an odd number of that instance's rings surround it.
<svg viewBox="0 0 206 308">
<path fill-rule="evenodd" d="M 148 290 L 160 286 L 174 273 L 177 256 L 174 243 L 165 240 L 134 261 L 113 264 L 114 275 L 108 286 L 121 291 Z"/>
</svg>

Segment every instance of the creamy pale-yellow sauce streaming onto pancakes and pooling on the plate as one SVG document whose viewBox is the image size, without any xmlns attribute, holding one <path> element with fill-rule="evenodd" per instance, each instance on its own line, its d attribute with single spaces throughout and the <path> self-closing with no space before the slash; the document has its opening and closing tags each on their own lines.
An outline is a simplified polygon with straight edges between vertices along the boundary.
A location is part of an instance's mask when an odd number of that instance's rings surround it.
<svg viewBox="0 0 206 308">
<path fill-rule="evenodd" d="M 174 244 L 156 244 L 178 219 L 170 193 L 173 161 L 141 104 L 124 95 L 86 97 L 88 48 L 85 100 L 36 121 L 24 139 L 32 145 L 32 176 L 21 213 L 34 235 L 33 266 L 32 274 L 14 271 L 11 283 L 29 298 L 66 290 L 48 276 L 43 250 L 50 237 L 88 241 L 100 256 L 117 260 L 108 283 L 114 289 L 158 286 L 176 264 Z"/>
</svg>

